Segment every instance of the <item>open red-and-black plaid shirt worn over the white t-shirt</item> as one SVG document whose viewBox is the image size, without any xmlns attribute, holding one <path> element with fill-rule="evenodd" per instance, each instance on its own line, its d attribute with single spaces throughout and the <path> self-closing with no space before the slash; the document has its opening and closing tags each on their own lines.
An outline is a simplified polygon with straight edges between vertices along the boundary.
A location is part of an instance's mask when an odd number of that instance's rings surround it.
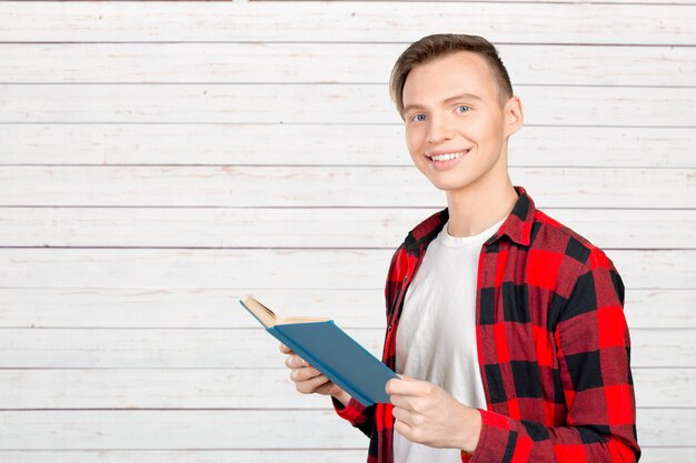
<svg viewBox="0 0 696 463">
<path fill-rule="evenodd" d="M 481 248 L 476 334 L 487 410 L 463 462 L 634 462 L 640 456 L 624 318 L 624 284 L 605 253 L 519 198 Z M 391 259 L 382 362 L 395 370 L 404 295 L 445 209 L 411 230 Z M 336 412 L 370 437 L 368 463 L 392 455 L 391 404 L 351 400 Z"/>
</svg>

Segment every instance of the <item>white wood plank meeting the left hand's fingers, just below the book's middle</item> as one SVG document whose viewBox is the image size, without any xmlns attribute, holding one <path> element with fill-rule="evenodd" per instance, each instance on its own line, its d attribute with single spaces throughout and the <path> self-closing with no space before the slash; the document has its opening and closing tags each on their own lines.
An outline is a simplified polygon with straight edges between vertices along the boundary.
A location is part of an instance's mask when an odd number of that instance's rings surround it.
<svg viewBox="0 0 696 463">
<path fill-rule="evenodd" d="M 633 369 L 640 407 L 696 407 L 695 369 Z M 253 387 L 249 387 L 253 384 Z M 0 410 L 330 409 L 288 370 L 0 370 Z"/>
</svg>

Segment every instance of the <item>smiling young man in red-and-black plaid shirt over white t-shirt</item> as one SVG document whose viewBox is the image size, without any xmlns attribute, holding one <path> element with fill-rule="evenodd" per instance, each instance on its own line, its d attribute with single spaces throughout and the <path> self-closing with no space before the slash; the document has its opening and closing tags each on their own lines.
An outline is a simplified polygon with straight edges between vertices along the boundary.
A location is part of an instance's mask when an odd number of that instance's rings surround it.
<svg viewBox="0 0 696 463">
<path fill-rule="evenodd" d="M 297 390 L 331 395 L 368 462 L 637 461 L 622 279 L 513 185 L 523 107 L 496 49 L 426 37 L 390 90 L 415 165 L 447 197 L 391 260 L 382 361 L 401 379 L 365 407 L 281 346 Z"/>
</svg>

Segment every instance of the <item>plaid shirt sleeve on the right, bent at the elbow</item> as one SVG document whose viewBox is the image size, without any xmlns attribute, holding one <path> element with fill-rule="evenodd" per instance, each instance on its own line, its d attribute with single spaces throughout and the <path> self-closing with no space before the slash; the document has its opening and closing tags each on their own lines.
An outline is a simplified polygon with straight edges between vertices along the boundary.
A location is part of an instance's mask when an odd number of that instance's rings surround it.
<svg viewBox="0 0 696 463">
<path fill-rule="evenodd" d="M 480 410 L 481 434 L 464 462 L 637 462 L 636 405 L 624 284 L 598 249 L 570 284 L 554 338 L 567 407 L 561 426 Z"/>
</svg>

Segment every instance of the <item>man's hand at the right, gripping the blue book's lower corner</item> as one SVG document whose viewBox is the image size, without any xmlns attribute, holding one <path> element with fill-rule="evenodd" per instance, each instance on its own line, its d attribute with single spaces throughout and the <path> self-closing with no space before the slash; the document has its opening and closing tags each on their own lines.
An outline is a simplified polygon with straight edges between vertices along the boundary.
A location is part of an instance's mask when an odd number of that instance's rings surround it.
<svg viewBox="0 0 696 463">
<path fill-rule="evenodd" d="M 394 429 L 404 437 L 431 447 L 474 452 L 481 430 L 478 410 L 432 383 L 404 375 L 389 380 L 386 391 L 394 405 Z"/>
</svg>

